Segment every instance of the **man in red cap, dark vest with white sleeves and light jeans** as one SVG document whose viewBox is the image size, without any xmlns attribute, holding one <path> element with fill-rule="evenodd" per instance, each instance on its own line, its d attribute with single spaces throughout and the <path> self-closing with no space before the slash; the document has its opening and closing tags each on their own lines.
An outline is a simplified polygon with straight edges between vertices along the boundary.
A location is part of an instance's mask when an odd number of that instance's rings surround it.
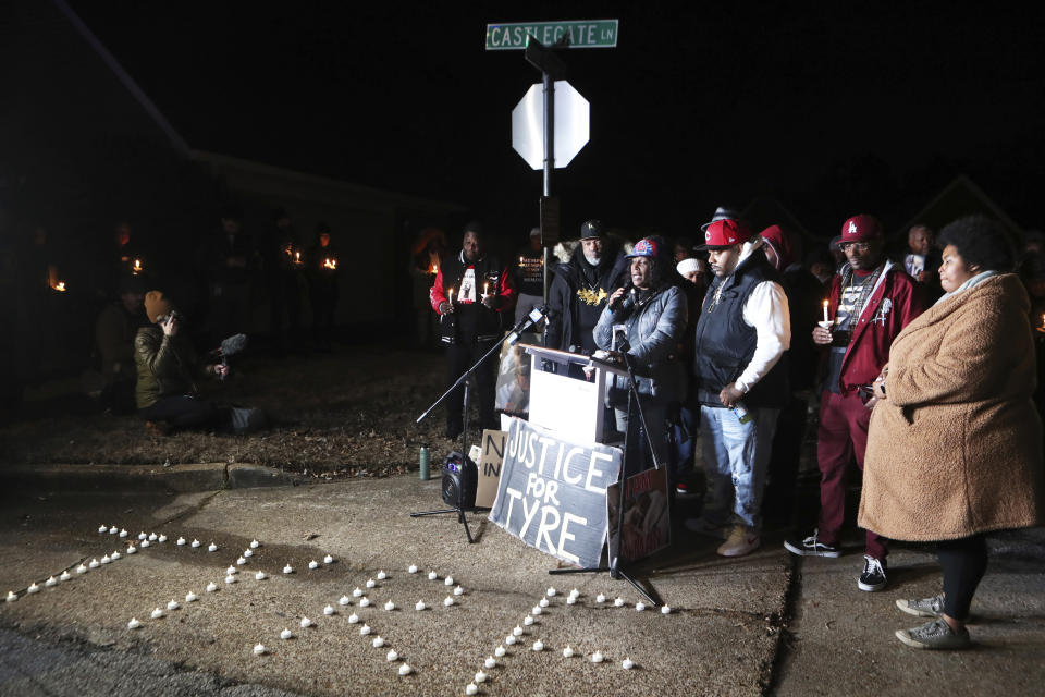
<svg viewBox="0 0 1045 697">
<path fill-rule="evenodd" d="M 704 295 L 693 341 L 708 491 L 686 527 L 726 541 L 723 557 L 760 545 L 762 494 L 780 408 L 790 400 L 782 357 L 791 341 L 787 296 L 766 259 L 764 240 L 738 219 L 704 230 L 715 278 Z"/>
</svg>

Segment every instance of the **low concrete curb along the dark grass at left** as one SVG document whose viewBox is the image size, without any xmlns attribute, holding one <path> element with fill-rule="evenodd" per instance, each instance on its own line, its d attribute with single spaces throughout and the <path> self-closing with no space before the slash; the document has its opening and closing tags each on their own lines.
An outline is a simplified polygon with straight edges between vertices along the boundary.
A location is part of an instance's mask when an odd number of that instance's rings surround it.
<svg viewBox="0 0 1045 697">
<path fill-rule="evenodd" d="M 255 487 L 294 486 L 300 475 L 251 464 L 186 465 L 7 465 L 0 484 L 30 489 L 76 491 L 217 491 Z"/>
</svg>

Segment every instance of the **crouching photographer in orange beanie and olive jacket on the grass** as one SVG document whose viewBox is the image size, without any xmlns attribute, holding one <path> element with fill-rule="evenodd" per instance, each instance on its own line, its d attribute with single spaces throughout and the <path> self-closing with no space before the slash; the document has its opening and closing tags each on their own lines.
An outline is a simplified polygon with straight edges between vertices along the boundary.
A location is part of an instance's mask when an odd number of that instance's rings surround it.
<svg viewBox="0 0 1045 697">
<path fill-rule="evenodd" d="M 182 317 L 161 291 L 145 294 L 149 325 L 134 339 L 137 367 L 135 400 L 138 414 L 161 433 L 226 425 L 228 409 L 200 399 L 196 380 L 224 378 L 229 366 L 200 363 L 185 332 Z"/>
</svg>

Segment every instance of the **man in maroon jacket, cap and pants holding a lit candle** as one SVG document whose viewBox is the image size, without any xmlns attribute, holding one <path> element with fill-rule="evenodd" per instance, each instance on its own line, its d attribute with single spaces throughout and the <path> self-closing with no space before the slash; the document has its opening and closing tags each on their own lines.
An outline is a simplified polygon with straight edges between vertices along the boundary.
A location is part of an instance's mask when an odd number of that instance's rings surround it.
<svg viewBox="0 0 1045 697">
<path fill-rule="evenodd" d="M 811 534 L 784 542 L 795 554 L 841 555 L 846 472 L 853 458 L 863 470 L 874 406 L 865 389 L 888 360 L 894 339 L 925 307 L 921 286 L 885 257 L 883 245 L 882 225 L 873 216 L 853 216 L 843 223 L 840 247 L 847 261 L 832 281 L 827 326 L 812 331 L 813 343 L 826 350 L 816 439 L 820 514 Z M 886 540 L 868 530 L 860 590 L 885 588 L 887 551 Z"/>
</svg>

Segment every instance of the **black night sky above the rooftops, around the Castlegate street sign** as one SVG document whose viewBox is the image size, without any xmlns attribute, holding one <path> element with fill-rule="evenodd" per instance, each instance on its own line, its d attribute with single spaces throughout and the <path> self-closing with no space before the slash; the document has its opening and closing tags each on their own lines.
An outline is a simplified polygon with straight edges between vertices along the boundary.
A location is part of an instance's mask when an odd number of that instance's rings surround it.
<svg viewBox="0 0 1045 697">
<path fill-rule="evenodd" d="M 536 223 L 541 174 L 511 148 L 540 74 L 487 23 L 619 19 L 567 51 L 591 142 L 553 194 L 564 227 L 691 233 L 773 196 L 816 234 L 908 220 L 955 174 L 1043 227 L 1043 11 L 985 3 L 132 3 L 71 5 L 197 149 Z M 1033 14 L 1028 14 L 1032 12 Z"/>
</svg>

